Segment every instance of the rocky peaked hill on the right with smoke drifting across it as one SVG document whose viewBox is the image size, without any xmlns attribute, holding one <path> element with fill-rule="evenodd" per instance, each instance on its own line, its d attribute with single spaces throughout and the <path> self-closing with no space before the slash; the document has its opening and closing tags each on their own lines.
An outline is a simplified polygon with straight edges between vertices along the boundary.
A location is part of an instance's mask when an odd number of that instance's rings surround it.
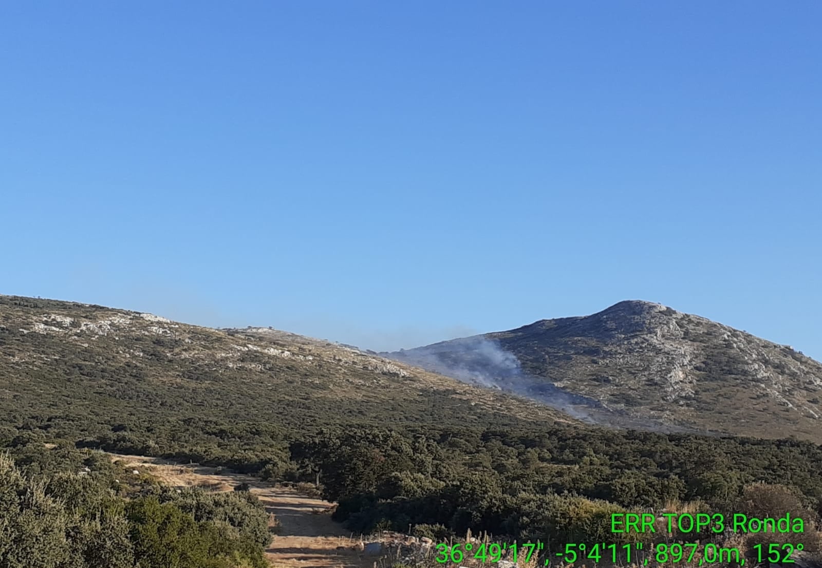
<svg viewBox="0 0 822 568">
<path fill-rule="evenodd" d="M 515 356 L 515 372 L 498 365 L 499 355 L 488 357 L 486 340 Z M 626 413 L 652 428 L 822 441 L 822 364 L 787 345 L 657 303 L 619 302 L 592 316 L 386 355 L 458 378 L 482 375 L 484 365 L 508 387 L 552 384 L 557 396 L 587 400 L 600 423 L 609 413 Z M 468 376 L 460 376 L 465 370 Z"/>
</svg>

